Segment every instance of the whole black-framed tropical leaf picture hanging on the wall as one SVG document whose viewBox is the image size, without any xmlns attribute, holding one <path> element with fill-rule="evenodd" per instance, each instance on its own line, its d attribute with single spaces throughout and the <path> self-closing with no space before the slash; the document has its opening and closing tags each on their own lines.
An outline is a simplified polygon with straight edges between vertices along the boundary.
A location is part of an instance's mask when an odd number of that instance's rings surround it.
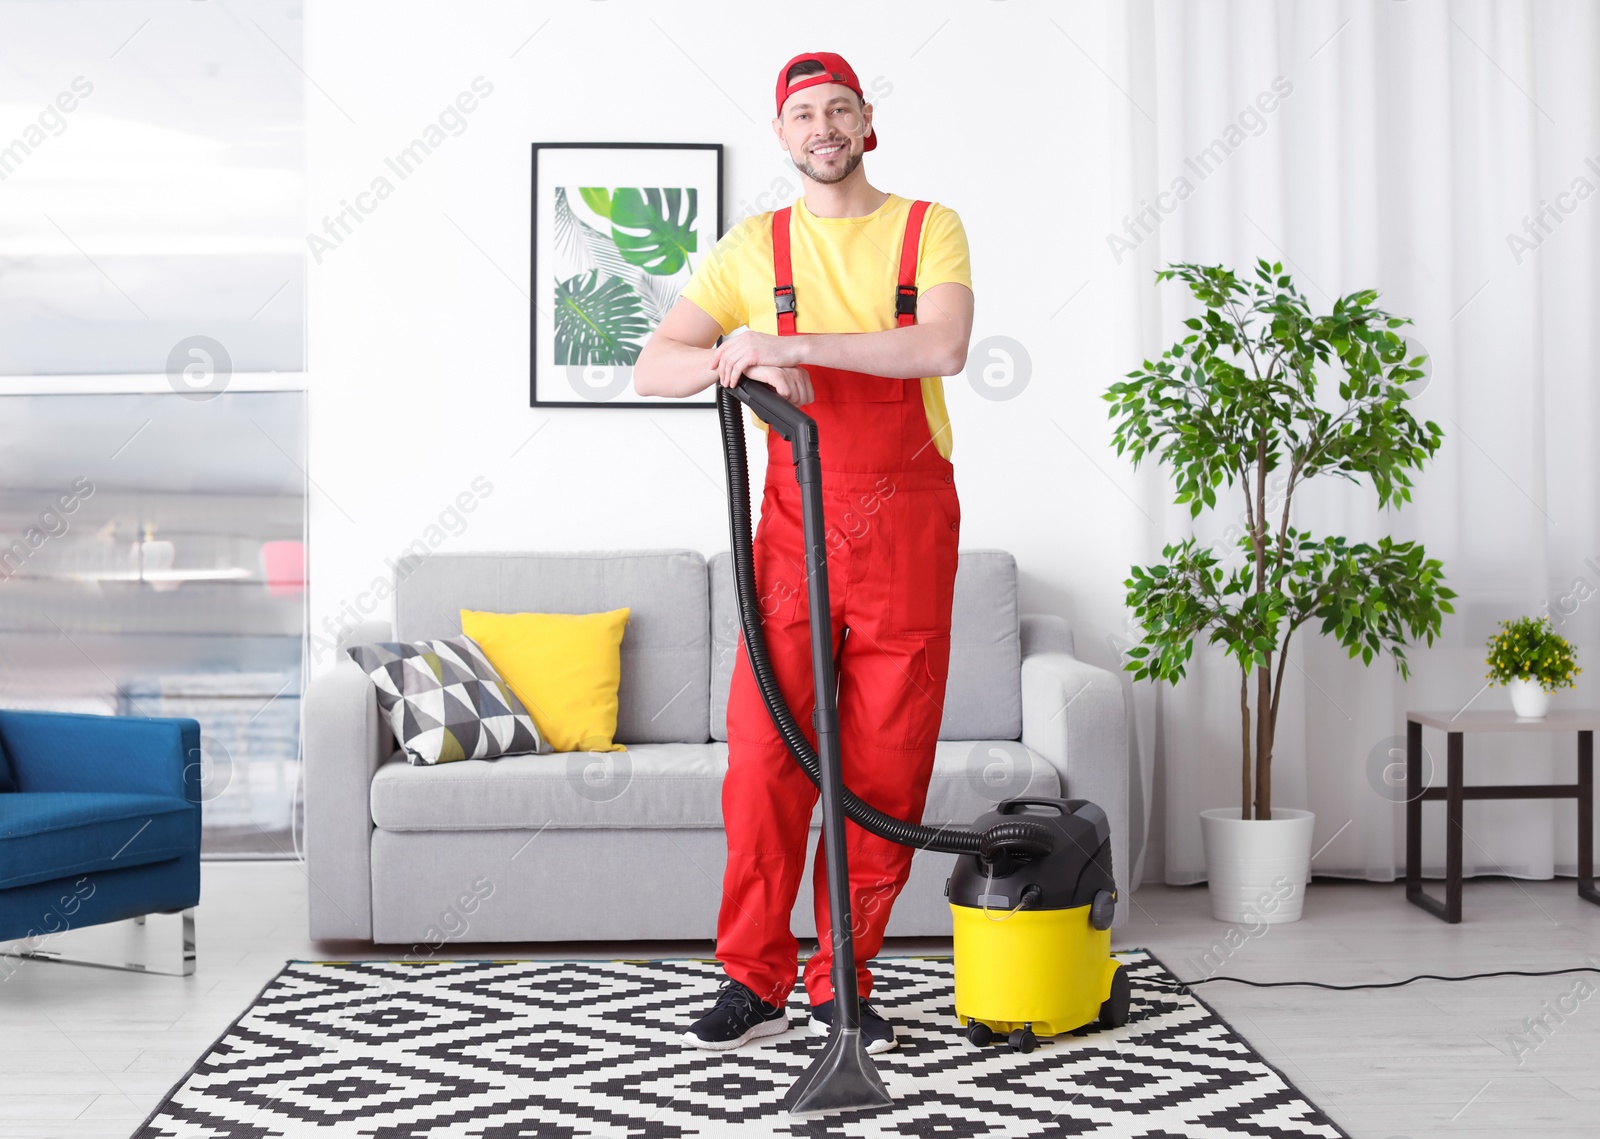
<svg viewBox="0 0 1600 1139">
<path fill-rule="evenodd" d="M 534 142 L 533 406 L 715 406 L 640 395 L 634 362 L 722 224 L 718 142 Z"/>
</svg>

